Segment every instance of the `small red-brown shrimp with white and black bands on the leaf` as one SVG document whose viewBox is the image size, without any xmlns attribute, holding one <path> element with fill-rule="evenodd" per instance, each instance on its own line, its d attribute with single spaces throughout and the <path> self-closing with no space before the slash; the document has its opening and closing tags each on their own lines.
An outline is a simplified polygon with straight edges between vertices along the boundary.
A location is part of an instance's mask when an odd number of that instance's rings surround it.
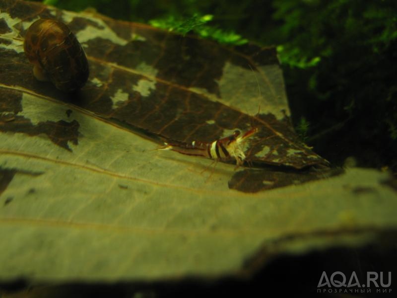
<svg viewBox="0 0 397 298">
<path fill-rule="evenodd" d="M 193 141 L 187 143 L 164 143 L 163 150 L 173 150 L 186 155 L 204 156 L 215 160 L 236 160 L 237 166 L 243 165 L 246 158 L 243 151 L 244 142 L 258 132 L 258 128 L 253 128 L 241 135 L 236 130 L 232 135 L 213 141 L 212 143 Z"/>
</svg>

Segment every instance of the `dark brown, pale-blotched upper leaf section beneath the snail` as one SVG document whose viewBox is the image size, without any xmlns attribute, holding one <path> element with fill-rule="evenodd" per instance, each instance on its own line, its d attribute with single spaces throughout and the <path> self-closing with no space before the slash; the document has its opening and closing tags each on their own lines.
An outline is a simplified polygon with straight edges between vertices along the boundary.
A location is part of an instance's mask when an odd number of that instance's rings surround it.
<svg viewBox="0 0 397 298">
<path fill-rule="evenodd" d="M 0 29 L 4 32 L 1 113 L 18 113 L 22 94 L 29 93 L 70 103 L 155 142 L 211 143 L 234 130 L 257 127 L 259 132 L 246 147 L 250 165 L 302 169 L 327 164 L 292 129 L 274 48 L 223 47 L 142 24 L 22 1 L 1 5 L 3 13 L 16 22 L 11 27 L 3 23 Z M 65 94 L 33 78 L 21 42 L 28 25 L 38 18 L 67 22 L 83 45 L 90 77 L 80 91 Z M 13 122 L 3 122 L 0 130 L 44 133 L 54 144 L 69 149 L 67 142 L 78 144 L 78 127 L 77 122 L 65 121 L 32 124 L 25 116 L 17 116 Z M 316 178 L 307 173 L 302 176 Z M 288 175 L 280 178 L 283 185 L 292 183 Z M 253 191 L 247 182 L 240 190 Z"/>
</svg>

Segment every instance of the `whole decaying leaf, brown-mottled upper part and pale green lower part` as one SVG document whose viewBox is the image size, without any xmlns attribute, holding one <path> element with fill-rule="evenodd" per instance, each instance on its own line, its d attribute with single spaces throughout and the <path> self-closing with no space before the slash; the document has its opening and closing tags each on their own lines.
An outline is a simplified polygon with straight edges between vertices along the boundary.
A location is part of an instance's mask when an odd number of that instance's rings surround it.
<svg viewBox="0 0 397 298">
<path fill-rule="evenodd" d="M 38 18 L 64 21 L 82 44 L 90 76 L 78 92 L 33 77 L 23 38 Z M 387 173 L 336 176 L 298 141 L 273 48 L 16 0 L 0 0 L 0 34 L 2 281 L 238 275 L 396 229 Z M 237 169 L 157 150 L 252 127 Z"/>
</svg>

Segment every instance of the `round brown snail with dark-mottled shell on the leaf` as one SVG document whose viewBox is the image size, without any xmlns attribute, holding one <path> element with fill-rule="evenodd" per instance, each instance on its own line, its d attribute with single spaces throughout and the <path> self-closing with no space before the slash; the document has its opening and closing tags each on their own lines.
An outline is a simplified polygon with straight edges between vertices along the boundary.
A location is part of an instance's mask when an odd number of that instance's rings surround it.
<svg viewBox="0 0 397 298">
<path fill-rule="evenodd" d="M 51 81 L 59 90 L 71 92 L 88 79 L 88 61 L 80 43 L 63 22 L 39 19 L 30 25 L 23 44 L 34 65 L 33 75 Z"/>
</svg>

